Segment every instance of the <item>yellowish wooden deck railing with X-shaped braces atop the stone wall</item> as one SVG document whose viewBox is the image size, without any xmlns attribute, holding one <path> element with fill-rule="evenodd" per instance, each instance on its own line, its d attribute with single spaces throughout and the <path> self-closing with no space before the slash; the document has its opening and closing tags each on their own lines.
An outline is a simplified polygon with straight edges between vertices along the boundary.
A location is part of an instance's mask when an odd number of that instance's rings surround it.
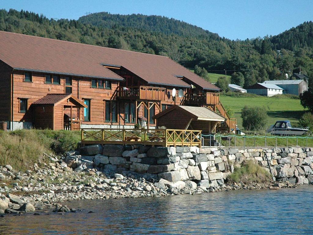
<svg viewBox="0 0 313 235">
<path fill-rule="evenodd" d="M 81 129 L 82 144 L 201 147 L 201 131 L 175 129 Z"/>
</svg>

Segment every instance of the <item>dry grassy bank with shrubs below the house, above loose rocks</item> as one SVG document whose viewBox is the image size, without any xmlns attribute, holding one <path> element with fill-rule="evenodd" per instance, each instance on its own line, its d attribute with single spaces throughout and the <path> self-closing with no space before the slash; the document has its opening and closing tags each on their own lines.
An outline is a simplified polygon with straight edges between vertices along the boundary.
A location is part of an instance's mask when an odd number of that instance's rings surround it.
<svg viewBox="0 0 313 235">
<path fill-rule="evenodd" d="M 11 165 L 15 170 L 27 170 L 46 154 L 62 154 L 76 149 L 80 132 L 52 130 L 0 131 L 0 165 Z"/>
</svg>

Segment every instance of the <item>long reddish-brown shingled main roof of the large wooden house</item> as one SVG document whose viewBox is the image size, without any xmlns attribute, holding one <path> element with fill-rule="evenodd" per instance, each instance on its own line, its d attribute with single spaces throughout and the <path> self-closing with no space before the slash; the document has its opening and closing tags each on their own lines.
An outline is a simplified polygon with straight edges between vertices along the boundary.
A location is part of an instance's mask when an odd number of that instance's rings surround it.
<svg viewBox="0 0 313 235">
<path fill-rule="evenodd" d="M 183 76 L 206 90 L 219 91 L 165 56 L 119 50 L 0 31 L 0 60 L 14 69 L 123 80 L 101 64 L 123 66 L 149 84 L 190 86 Z"/>
</svg>

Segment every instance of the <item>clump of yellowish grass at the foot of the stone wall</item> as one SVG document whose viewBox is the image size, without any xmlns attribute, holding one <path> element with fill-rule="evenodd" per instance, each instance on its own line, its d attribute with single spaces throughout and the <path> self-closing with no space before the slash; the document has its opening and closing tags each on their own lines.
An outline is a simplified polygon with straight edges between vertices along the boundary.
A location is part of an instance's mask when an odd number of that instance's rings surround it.
<svg viewBox="0 0 313 235">
<path fill-rule="evenodd" d="M 244 162 L 241 167 L 235 167 L 234 172 L 227 179 L 229 182 L 244 184 L 266 183 L 272 180 L 268 171 L 251 160 Z"/>
</svg>

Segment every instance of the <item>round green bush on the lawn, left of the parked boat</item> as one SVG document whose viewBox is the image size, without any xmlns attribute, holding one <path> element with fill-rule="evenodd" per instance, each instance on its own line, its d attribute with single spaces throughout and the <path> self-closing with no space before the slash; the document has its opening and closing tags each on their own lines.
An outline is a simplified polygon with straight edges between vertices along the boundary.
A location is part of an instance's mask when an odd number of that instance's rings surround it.
<svg viewBox="0 0 313 235">
<path fill-rule="evenodd" d="M 245 106 L 241 110 L 241 118 L 246 130 L 263 130 L 266 127 L 267 113 L 264 108 Z"/>
</svg>

